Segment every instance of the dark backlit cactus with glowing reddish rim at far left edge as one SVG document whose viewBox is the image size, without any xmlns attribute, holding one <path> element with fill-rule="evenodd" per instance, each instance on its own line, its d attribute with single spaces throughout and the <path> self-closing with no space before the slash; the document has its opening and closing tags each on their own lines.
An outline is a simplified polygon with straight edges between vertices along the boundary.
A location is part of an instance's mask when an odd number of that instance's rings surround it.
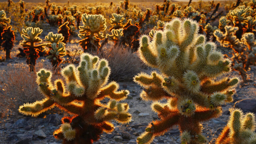
<svg viewBox="0 0 256 144">
<path fill-rule="evenodd" d="M 1 33 L 2 37 L 2 48 L 5 50 L 5 59 L 10 59 L 10 53 L 13 47 L 13 43 L 15 41 L 14 31 L 12 30 L 12 26 L 8 26 Z"/>
</svg>

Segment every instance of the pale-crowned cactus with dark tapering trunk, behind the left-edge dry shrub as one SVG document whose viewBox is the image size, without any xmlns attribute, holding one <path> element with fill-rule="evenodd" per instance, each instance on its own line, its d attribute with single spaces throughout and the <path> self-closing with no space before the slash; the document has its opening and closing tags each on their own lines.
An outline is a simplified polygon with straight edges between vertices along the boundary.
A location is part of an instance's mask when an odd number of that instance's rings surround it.
<svg viewBox="0 0 256 144">
<path fill-rule="evenodd" d="M 34 71 L 36 60 L 39 58 L 39 51 L 43 51 L 46 44 L 39 44 L 42 42 L 42 39 L 39 38 L 39 35 L 43 32 L 40 28 L 28 27 L 22 29 L 21 37 L 23 41 L 20 45 L 23 46 L 24 53 L 26 54 L 26 62 L 29 65 L 30 71 Z"/>
</svg>

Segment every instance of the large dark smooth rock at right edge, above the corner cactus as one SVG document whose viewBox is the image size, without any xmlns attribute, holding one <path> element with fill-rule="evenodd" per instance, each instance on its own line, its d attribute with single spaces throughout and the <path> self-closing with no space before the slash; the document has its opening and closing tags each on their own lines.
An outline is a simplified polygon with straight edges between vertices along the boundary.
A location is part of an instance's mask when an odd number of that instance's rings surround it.
<svg viewBox="0 0 256 144">
<path fill-rule="evenodd" d="M 256 113 L 256 99 L 248 98 L 239 100 L 234 104 L 234 107 L 242 109 L 243 112 L 250 111 Z"/>
</svg>

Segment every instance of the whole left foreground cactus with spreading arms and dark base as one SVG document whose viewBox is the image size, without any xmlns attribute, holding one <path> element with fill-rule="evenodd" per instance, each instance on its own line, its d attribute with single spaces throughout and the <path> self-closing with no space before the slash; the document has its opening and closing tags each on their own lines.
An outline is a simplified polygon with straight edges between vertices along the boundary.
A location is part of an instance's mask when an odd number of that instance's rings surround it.
<svg viewBox="0 0 256 144">
<path fill-rule="evenodd" d="M 70 64 L 62 69 L 66 85 L 61 79 L 53 85 L 52 73 L 48 70 L 37 72 L 36 82 L 45 98 L 19 108 L 22 114 L 33 117 L 54 106 L 72 114 L 72 117 L 62 118 L 62 125 L 53 134 L 55 138 L 62 139 L 63 144 L 92 144 L 103 131 L 114 130 L 110 120 L 120 123 L 131 120 L 128 104 L 118 102 L 125 99 L 129 91 L 117 91 L 119 85 L 116 82 L 107 84 L 110 74 L 108 62 L 88 53 L 82 54 L 80 60 L 78 67 Z M 110 101 L 100 103 L 105 97 Z"/>
</svg>

